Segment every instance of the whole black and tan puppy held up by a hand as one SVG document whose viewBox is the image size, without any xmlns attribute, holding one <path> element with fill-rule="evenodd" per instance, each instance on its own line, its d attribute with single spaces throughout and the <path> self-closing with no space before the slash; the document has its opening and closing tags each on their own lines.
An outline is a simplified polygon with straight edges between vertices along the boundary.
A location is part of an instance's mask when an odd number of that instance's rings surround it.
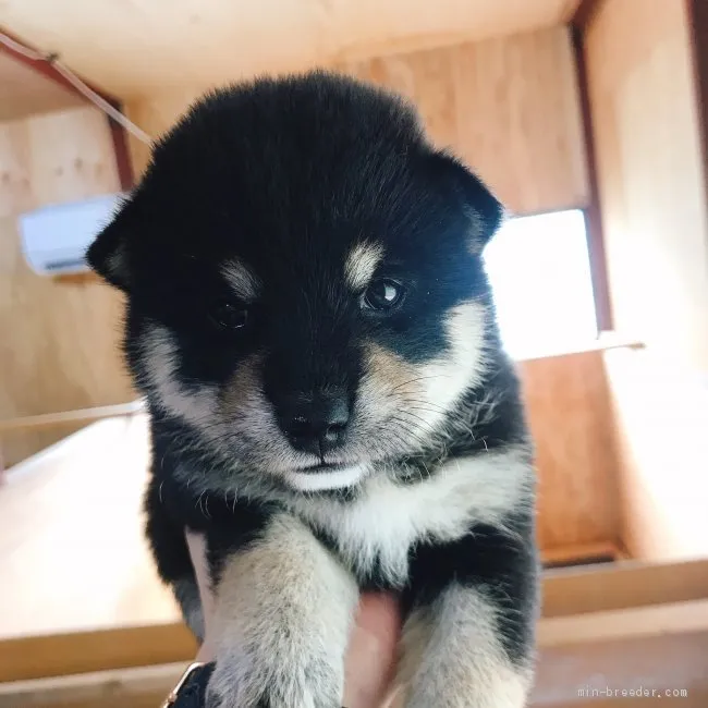
<svg viewBox="0 0 708 708">
<path fill-rule="evenodd" d="M 399 591 L 407 708 L 518 708 L 534 472 L 481 254 L 501 207 L 401 100 L 322 73 L 197 103 L 88 258 L 127 294 L 147 533 L 219 708 L 341 706 L 359 590 Z"/>
</svg>

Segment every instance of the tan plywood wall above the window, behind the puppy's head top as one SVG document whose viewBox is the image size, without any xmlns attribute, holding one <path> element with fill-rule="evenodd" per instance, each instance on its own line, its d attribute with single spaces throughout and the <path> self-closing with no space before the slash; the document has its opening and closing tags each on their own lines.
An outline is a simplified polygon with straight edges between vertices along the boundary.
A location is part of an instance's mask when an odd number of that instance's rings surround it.
<svg viewBox="0 0 708 708">
<path fill-rule="evenodd" d="M 338 64 L 401 91 L 440 146 L 452 147 L 520 213 L 583 207 L 588 187 L 569 30 L 538 32 Z M 183 89 L 129 103 L 152 136 L 198 95 Z M 134 145 L 142 168 L 148 151 Z"/>
</svg>

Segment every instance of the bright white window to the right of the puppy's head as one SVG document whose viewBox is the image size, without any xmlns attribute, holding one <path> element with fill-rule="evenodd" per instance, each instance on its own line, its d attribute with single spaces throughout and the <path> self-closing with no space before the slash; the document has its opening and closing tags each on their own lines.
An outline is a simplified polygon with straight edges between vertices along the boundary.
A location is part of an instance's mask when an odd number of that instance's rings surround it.
<svg viewBox="0 0 708 708">
<path fill-rule="evenodd" d="M 487 246 L 485 263 L 511 356 L 561 353 L 597 339 L 582 211 L 510 219 Z"/>
</svg>

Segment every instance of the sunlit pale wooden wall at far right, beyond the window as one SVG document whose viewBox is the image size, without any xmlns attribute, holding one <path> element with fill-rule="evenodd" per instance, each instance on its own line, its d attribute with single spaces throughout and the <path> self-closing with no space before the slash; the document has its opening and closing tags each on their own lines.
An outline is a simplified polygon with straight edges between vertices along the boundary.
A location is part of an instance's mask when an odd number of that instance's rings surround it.
<svg viewBox="0 0 708 708">
<path fill-rule="evenodd" d="M 608 355 L 623 537 L 656 560 L 708 554 L 708 215 L 687 3 L 646 5 L 601 2 L 585 52 L 614 322 L 648 344 Z"/>
</svg>

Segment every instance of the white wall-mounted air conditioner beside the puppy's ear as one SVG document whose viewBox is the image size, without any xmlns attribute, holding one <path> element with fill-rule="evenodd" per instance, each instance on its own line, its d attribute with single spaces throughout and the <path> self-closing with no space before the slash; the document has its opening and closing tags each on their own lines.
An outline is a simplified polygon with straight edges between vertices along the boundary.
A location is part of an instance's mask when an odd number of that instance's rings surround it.
<svg viewBox="0 0 708 708">
<path fill-rule="evenodd" d="M 21 215 L 20 237 L 29 267 L 40 276 L 87 271 L 86 249 L 124 197 L 108 194 Z"/>
</svg>

